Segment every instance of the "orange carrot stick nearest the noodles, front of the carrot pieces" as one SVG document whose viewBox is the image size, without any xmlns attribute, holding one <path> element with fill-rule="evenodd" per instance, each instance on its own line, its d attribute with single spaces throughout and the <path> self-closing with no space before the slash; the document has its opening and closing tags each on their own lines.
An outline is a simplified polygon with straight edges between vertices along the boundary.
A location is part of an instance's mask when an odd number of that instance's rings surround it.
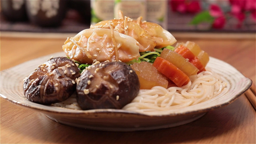
<svg viewBox="0 0 256 144">
<path fill-rule="evenodd" d="M 153 66 L 166 77 L 174 82 L 178 87 L 188 84 L 189 77 L 178 69 L 175 65 L 168 60 L 161 57 L 157 57 L 153 63 Z"/>
</svg>

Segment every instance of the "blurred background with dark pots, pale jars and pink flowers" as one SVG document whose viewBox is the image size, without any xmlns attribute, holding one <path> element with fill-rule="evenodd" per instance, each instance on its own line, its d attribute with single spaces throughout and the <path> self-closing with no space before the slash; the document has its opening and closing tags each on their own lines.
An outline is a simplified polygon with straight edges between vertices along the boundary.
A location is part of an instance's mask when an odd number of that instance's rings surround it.
<svg viewBox="0 0 256 144">
<path fill-rule="evenodd" d="M 255 33 L 256 0 L 1 0 L 1 32 L 78 33 L 101 20 L 125 16 L 170 32 Z"/>
</svg>

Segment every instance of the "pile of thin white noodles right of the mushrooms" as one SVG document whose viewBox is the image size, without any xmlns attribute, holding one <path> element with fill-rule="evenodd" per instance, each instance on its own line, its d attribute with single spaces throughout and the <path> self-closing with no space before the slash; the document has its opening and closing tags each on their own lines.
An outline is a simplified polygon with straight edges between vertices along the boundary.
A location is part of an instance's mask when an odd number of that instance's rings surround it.
<svg viewBox="0 0 256 144">
<path fill-rule="evenodd" d="M 124 110 L 156 115 L 161 111 L 184 108 L 209 100 L 218 95 L 226 86 L 218 75 L 211 71 L 202 71 L 190 77 L 190 82 L 182 87 L 153 87 L 140 90 L 138 96 Z"/>
</svg>

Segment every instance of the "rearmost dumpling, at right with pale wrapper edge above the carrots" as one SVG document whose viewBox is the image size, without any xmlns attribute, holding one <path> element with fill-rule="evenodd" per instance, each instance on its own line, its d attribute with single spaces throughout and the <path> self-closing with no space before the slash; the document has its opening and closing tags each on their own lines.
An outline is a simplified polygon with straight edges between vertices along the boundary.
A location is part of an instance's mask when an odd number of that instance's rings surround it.
<svg viewBox="0 0 256 144">
<path fill-rule="evenodd" d="M 134 22 L 137 23 L 135 20 Z M 140 27 L 147 31 L 148 34 L 156 41 L 155 48 L 163 48 L 168 45 L 173 45 L 177 42 L 174 36 L 165 30 L 162 26 L 152 22 L 140 22 Z"/>
</svg>

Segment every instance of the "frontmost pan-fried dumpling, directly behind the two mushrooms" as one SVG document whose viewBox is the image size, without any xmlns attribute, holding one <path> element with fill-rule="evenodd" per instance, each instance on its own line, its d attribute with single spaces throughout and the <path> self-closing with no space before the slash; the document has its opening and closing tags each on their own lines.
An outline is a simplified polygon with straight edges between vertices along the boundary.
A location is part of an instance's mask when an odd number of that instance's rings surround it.
<svg viewBox="0 0 256 144">
<path fill-rule="evenodd" d="M 114 38 L 119 60 L 126 62 L 140 57 L 139 46 L 133 37 L 114 31 Z M 76 36 L 68 38 L 62 49 L 68 57 L 83 64 L 92 64 L 95 59 L 100 62 L 115 60 L 111 29 L 84 29 Z"/>
</svg>

